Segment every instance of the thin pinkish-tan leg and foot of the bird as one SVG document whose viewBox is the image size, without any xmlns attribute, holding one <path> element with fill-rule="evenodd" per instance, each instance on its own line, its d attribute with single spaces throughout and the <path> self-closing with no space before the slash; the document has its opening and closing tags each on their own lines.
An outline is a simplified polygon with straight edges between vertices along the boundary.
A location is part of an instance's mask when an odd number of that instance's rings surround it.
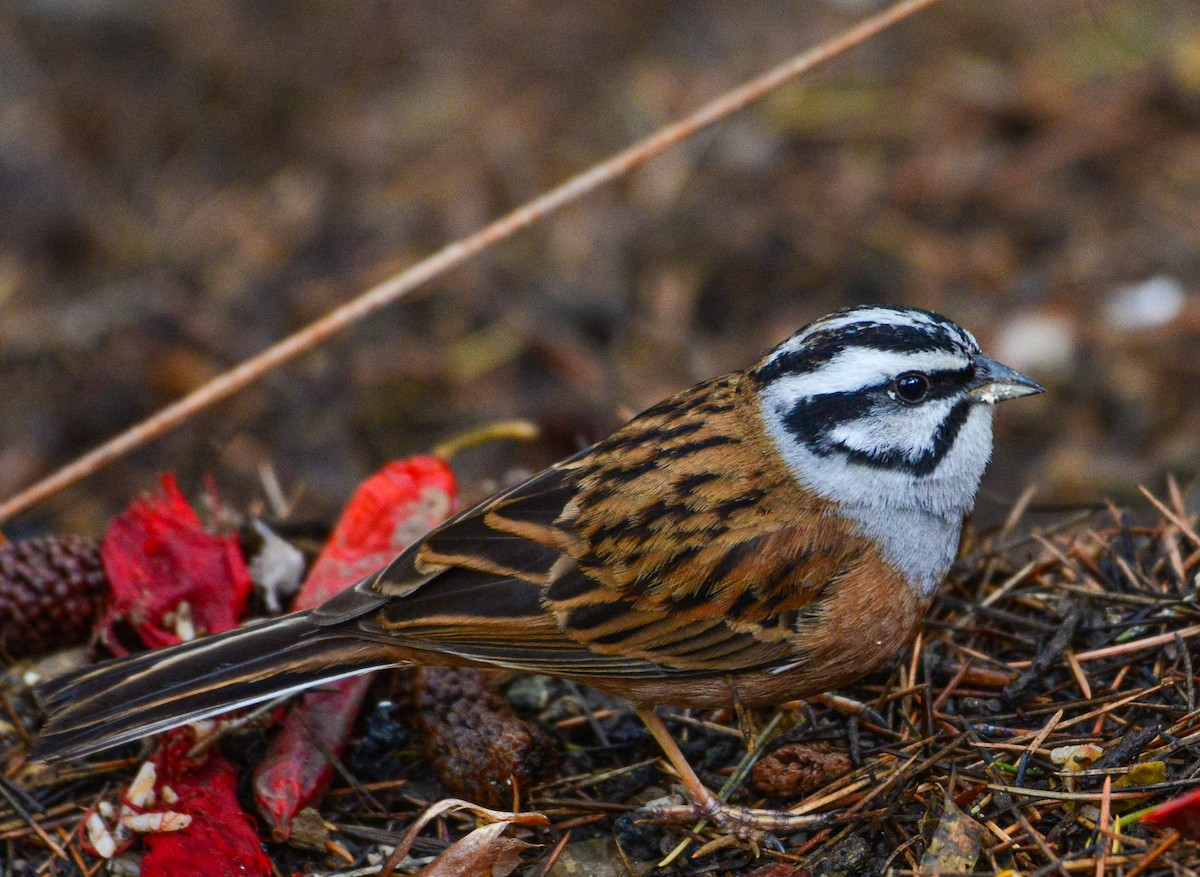
<svg viewBox="0 0 1200 877">
<path fill-rule="evenodd" d="M 784 834 L 823 822 L 823 816 L 797 816 L 781 810 L 751 810 L 726 804 L 700 781 L 696 771 L 684 757 L 679 744 L 671 737 L 662 719 L 653 707 L 638 707 L 638 717 L 646 723 L 646 729 L 662 749 L 662 753 L 679 774 L 679 780 L 691 797 L 694 804 L 684 806 L 646 807 L 646 813 L 658 822 L 692 822 L 707 819 L 722 831 L 737 835 L 744 840 L 761 840 L 768 834 Z"/>
</svg>

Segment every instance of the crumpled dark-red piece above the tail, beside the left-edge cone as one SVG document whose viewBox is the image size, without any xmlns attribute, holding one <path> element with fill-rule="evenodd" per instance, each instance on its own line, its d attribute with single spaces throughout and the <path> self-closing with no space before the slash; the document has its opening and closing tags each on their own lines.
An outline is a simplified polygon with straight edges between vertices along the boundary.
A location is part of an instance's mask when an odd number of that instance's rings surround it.
<svg viewBox="0 0 1200 877">
<path fill-rule="evenodd" d="M 101 637 L 118 655 L 128 654 L 115 633 L 120 621 L 149 648 L 170 645 L 188 626 L 196 635 L 236 626 L 252 588 L 238 540 L 208 533 L 172 474 L 162 493 L 109 522 L 101 557 L 112 583 Z"/>
</svg>

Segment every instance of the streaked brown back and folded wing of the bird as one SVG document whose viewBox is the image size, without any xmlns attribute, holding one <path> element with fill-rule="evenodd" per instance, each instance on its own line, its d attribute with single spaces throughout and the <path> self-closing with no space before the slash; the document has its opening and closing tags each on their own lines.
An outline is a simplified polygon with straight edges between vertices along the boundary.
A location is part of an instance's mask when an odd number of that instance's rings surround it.
<svg viewBox="0 0 1200 877">
<path fill-rule="evenodd" d="M 577 678 L 794 661 L 799 613 L 853 559 L 833 528 L 787 525 L 812 519 L 811 500 L 746 434 L 742 392 L 731 376 L 649 409 L 319 612 L 372 639 Z"/>
</svg>

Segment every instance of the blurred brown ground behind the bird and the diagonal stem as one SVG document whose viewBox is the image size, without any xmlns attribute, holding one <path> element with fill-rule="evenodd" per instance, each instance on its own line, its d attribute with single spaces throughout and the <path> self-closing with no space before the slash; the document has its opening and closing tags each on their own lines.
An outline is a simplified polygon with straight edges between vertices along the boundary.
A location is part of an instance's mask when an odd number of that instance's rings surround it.
<svg viewBox="0 0 1200 877">
<path fill-rule="evenodd" d="M 869 0 L 8 0 L 0 494 L 881 8 Z M 1200 465 L 1200 5 L 946 0 L 37 510 L 157 474 L 332 518 L 392 457 L 478 497 L 836 307 L 941 311 L 1043 382 L 982 513 Z"/>
</svg>

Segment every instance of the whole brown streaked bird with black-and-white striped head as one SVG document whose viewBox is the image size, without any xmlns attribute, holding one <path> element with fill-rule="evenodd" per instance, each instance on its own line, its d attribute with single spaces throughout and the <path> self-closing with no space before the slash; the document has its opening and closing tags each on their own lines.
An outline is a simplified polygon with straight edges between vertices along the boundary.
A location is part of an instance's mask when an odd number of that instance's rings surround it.
<svg viewBox="0 0 1200 877">
<path fill-rule="evenodd" d="M 1043 392 L 937 313 L 822 317 L 473 505 L 318 608 L 42 681 L 32 757 L 97 752 L 385 667 L 562 677 L 625 698 L 695 812 L 734 833 L 656 711 L 865 675 L 918 631 L 991 456 Z"/>
</svg>

